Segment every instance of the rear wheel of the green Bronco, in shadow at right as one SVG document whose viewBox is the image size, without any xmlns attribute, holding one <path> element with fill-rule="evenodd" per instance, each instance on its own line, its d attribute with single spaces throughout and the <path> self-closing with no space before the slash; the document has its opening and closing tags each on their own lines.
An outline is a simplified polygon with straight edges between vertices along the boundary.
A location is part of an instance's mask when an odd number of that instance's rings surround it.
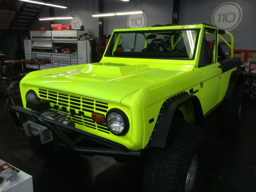
<svg viewBox="0 0 256 192">
<path fill-rule="evenodd" d="M 224 100 L 217 112 L 217 125 L 221 134 L 238 134 L 243 119 L 243 86 L 236 85 L 232 98 Z"/>
</svg>

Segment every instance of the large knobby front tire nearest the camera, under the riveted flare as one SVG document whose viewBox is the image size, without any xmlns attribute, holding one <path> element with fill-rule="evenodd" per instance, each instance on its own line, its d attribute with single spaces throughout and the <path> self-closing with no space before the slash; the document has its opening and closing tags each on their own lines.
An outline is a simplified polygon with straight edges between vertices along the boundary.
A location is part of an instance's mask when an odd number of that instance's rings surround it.
<svg viewBox="0 0 256 192">
<path fill-rule="evenodd" d="M 165 148 L 152 149 L 145 160 L 143 191 L 200 191 L 205 152 L 200 127 L 179 123 L 176 134 Z"/>
</svg>

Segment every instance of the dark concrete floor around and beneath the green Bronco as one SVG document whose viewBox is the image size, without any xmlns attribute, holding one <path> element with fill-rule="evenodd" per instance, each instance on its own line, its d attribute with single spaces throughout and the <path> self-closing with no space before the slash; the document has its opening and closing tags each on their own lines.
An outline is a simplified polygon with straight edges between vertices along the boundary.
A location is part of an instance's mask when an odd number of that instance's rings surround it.
<svg viewBox="0 0 256 192">
<path fill-rule="evenodd" d="M 4 112 L 6 96 L 0 94 L 0 159 L 33 176 L 35 192 L 41 191 L 140 191 L 143 167 L 117 163 L 102 156 L 74 156 L 47 163 L 35 156 L 27 139 Z M 15 97 L 20 104 L 19 96 Z M 218 135 L 215 115 L 206 119 L 208 145 L 203 191 L 256 191 L 256 101 L 247 100 L 240 136 Z"/>
</svg>

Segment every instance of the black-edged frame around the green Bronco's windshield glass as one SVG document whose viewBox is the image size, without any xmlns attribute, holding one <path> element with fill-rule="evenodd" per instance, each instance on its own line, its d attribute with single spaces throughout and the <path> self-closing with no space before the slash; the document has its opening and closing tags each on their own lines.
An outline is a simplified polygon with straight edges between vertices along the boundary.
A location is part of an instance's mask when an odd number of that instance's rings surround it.
<svg viewBox="0 0 256 192">
<path fill-rule="evenodd" d="M 110 51 L 110 45 L 112 43 L 112 41 L 114 40 L 114 37 L 116 34 L 118 33 L 156 33 L 156 32 L 171 32 L 171 31 L 197 31 L 197 37 L 196 37 L 196 42 L 195 42 L 195 49 L 194 49 L 194 53 L 193 53 L 193 57 L 192 58 L 180 58 L 180 57 L 139 57 L 139 56 L 114 56 L 114 55 L 108 55 L 107 53 L 109 53 Z M 109 40 L 109 44 L 108 47 L 106 48 L 103 57 L 109 57 L 109 58 L 138 58 L 138 59 L 162 59 L 162 60 L 195 60 L 196 57 L 196 52 L 198 49 L 198 40 L 200 37 L 200 31 L 201 28 L 185 28 L 185 29 L 160 29 L 160 30 L 151 30 L 151 29 L 147 29 L 147 30 L 127 30 L 127 31 L 115 31 L 112 33 L 111 38 Z"/>
</svg>

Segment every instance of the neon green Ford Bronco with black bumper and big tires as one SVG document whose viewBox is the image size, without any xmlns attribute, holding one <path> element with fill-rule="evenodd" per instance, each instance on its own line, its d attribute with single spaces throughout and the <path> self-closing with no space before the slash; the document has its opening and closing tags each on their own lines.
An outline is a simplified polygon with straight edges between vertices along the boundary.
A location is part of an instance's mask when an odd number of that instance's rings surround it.
<svg viewBox="0 0 256 192">
<path fill-rule="evenodd" d="M 215 26 L 115 29 L 100 62 L 25 76 L 24 108 L 9 112 L 41 158 L 136 159 L 143 191 L 199 191 L 204 118 L 216 111 L 220 132 L 238 132 L 240 64 L 233 36 Z"/>
</svg>

